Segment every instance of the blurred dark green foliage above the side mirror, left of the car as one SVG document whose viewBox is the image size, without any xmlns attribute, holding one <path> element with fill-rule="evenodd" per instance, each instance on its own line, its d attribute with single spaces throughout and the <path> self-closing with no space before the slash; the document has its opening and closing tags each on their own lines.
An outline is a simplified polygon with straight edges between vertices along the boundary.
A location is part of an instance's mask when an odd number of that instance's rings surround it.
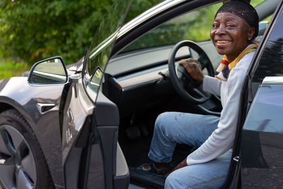
<svg viewBox="0 0 283 189">
<path fill-rule="evenodd" d="M 0 52 L 30 64 L 61 55 L 83 57 L 111 0 L 26 0 L 0 3 Z"/>
</svg>

